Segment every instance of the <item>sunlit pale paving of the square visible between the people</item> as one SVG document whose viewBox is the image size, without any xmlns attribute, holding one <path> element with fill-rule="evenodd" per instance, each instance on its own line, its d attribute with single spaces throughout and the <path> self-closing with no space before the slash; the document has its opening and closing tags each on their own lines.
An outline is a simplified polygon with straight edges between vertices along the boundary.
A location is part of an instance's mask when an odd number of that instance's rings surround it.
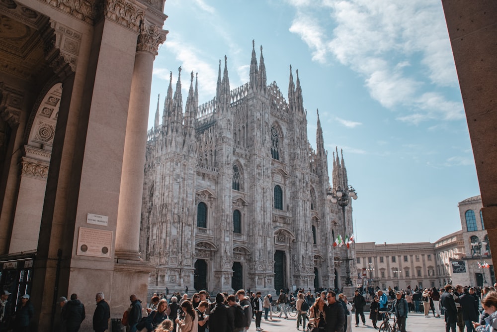
<svg viewBox="0 0 497 332">
<path fill-rule="evenodd" d="M 352 314 L 352 332 L 375 332 L 378 330 L 373 329 L 371 320 L 368 318 L 369 313 L 366 313 L 366 326 L 359 323 L 359 327 L 355 327 L 355 315 Z M 360 319 L 360 318 L 359 318 Z M 381 322 L 378 322 L 378 327 Z M 264 316 L 262 316 L 262 321 L 260 327 L 265 332 L 294 332 L 302 331 L 302 327 L 297 330 L 297 317 L 290 317 L 288 319 L 278 318 L 277 315 L 273 315 L 273 320 L 264 321 Z M 424 318 L 423 314 L 420 313 L 409 313 L 406 324 L 407 332 L 443 332 L 445 331 L 445 322 L 443 316 L 440 318 L 434 318 L 431 313 L 429 318 Z M 255 320 L 252 320 L 250 329 L 248 331 L 255 331 Z"/>
</svg>

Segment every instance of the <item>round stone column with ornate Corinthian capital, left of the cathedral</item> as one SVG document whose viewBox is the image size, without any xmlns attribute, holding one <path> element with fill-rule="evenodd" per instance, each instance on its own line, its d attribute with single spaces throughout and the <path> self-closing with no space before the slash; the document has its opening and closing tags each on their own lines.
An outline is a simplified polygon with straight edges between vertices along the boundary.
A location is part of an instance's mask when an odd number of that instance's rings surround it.
<svg viewBox="0 0 497 332">
<path fill-rule="evenodd" d="M 139 260 L 140 218 L 142 207 L 145 148 L 150 104 L 152 70 L 157 49 L 167 31 L 142 23 L 136 47 L 131 82 L 121 189 L 117 212 L 116 250 L 118 259 Z"/>
</svg>

